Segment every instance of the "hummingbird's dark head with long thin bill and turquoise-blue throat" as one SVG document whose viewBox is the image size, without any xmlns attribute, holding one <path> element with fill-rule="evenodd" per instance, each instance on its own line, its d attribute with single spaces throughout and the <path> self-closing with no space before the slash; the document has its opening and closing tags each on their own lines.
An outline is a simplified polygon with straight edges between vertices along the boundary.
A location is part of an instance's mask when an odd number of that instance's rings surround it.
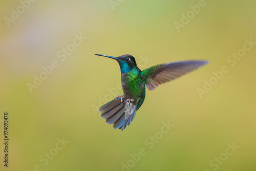
<svg viewBox="0 0 256 171">
<path fill-rule="evenodd" d="M 132 55 L 122 55 L 119 57 L 113 57 L 113 56 L 101 55 L 101 54 L 95 54 L 95 55 L 105 56 L 105 57 L 112 58 L 112 59 L 115 59 L 116 61 L 118 61 L 120 69 L 121 69 L 121 73 L 127 73 L 134 69 L 139 70 L 139 68 L 137 67 L 135 58 Z"/>
</svg>

